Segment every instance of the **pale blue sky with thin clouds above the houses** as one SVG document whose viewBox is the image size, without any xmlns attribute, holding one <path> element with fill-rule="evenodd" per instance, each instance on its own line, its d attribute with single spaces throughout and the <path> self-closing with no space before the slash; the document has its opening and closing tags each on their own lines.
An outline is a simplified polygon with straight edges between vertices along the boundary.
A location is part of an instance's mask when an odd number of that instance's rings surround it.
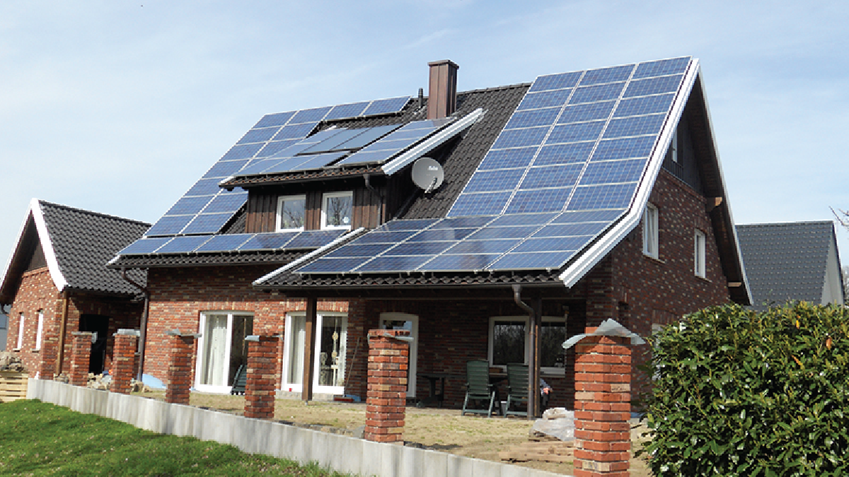
<svg viewBox="0 0 849 477">
<path fill-rule="evenodd" d="M 737 223 L 849 209 L 846 2 L 0 3 L 0 262 L 33 197 L 155 222 L 262 115 L 699 58 Z M 849 264 L 849 234 L 838 231 Z"/>
</svg>

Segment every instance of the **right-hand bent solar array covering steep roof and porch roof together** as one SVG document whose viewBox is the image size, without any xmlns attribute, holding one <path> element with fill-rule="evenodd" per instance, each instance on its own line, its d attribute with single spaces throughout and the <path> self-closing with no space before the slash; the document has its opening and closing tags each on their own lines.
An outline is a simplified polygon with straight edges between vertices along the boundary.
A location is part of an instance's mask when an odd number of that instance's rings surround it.
<svg viewBox="0 0 849 477">
<path fill-rule="evenodd" d="M 447 218 L 387 222 L 295 272 L 563 267 L 631 204 L 689 62 L 538 77 Z"/>
</svg>

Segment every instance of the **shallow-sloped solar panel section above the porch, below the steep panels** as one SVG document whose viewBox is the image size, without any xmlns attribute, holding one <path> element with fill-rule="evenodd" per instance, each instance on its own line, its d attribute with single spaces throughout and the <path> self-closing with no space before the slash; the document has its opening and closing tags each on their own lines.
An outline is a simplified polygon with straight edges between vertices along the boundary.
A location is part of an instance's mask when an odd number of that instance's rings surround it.
<svg viewBox="0 0 849 477">
<path fill-rule="evenodd" d="M 622 209 L 387 222 L 299 273 L 451 272 L 554 268 Z"/>
</svg>

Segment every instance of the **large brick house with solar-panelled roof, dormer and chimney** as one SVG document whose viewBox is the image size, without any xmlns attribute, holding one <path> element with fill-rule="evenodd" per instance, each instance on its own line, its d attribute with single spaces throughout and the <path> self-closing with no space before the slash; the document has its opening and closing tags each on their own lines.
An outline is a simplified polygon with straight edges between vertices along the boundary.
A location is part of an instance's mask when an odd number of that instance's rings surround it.
<svg viewBox="0 0 849 477">
<path fill-rule="evenodd" d="M 409 396 L 446 373 L 458 406 L 467 361 L 538 353 L 571 407 L 567 337 L 750 303 L 698 60 L 464 93 L 457 70 L 431 63 L 427 98 L 264 116 L 121 250 L 110 267 L 149 271 L 146 372 L 166 329 L 200 332 L 195 387 L 226 391 L 243 337 L 280 334 L 283 393 L 365 396 L 368 329 L 401 327 Z"/>
</svg>

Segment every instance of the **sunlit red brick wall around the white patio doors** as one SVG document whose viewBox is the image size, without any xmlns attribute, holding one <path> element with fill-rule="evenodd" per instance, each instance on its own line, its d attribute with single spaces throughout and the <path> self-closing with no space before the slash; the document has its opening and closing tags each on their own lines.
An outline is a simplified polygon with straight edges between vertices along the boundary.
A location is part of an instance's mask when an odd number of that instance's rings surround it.
<svg viewBox="0 0 849 477">
<path fill-rule="evenodd" d="M 275 382 L 279 384 L 283 367 L 286 313 L 306 310 L 306 302 L 252 288 L 251 283 L 256 278 L 278 267 L 279 265 L 265 264 L 239 267 L 150 269 L 148 273 L 150 309 L 147 345 L 144 353 L 144 373 L 158 379 L 166 378 L 166 330 L 177 328 L 183 333 L 199 333 L 202 311 L 245 311 L 253 313 L 253 334 L 280 334 L 278 359 L 275 364 Z M 319 300 L 318 311 L 346 312 L 348 302 Z M 347 353 L 350 359 L 356 343 L 356 333 L 351 334 L 350 330 L 362 328 L 362 324 L 357 323 L 356 313 L 353 316 L 349 314 L 348 326 Z M 361 353 L 364 348 L 363 343 Z M 195 368 L 193 361 L 193 383 Z"/>
</svg>

